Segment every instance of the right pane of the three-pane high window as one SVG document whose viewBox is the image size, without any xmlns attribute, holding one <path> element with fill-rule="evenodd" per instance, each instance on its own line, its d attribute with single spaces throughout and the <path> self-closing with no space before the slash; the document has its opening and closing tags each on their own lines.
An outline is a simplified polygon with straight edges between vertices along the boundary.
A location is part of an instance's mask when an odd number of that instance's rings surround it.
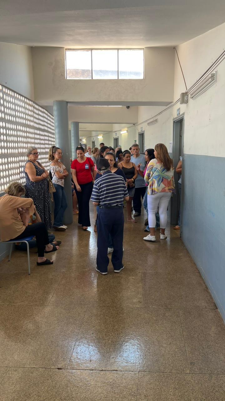
<svg viewBox="0 0 225 401">
<path fill-rule="evenodd" d="M 119 79 L 144 78 L 144 51 L 119 50 Z"/>
</svg>

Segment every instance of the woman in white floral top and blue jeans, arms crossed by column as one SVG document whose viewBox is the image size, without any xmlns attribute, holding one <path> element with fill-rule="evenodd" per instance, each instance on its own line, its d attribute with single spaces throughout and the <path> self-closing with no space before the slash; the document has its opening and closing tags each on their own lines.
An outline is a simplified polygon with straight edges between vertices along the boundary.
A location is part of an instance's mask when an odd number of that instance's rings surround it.
<svg viewBox="0 0 225 401">
<path fill-rule="evenodd" d="M 48 160 L 50 163 L 50 171 L 52 173 L 52 182 L 56 189 L 53 192 L 54 197 L 54 229 L 57 231 L 65 231 L 67 226 L 62 224 L 64 211 L 67 208 L 66 192 L 64 191 L 64 178 L 66 178 L 69 173 L 66 167 L 60 159 L 62 158 L 62 150 L 56 146 L 51 146 L 48 154 Z"/>
</svg>

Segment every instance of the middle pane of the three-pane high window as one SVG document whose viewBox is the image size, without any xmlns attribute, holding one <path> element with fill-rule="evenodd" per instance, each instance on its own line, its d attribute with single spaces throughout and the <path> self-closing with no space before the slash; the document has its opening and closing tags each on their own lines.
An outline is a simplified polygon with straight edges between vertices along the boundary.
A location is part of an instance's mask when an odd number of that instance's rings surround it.
<svg viewBox="0 0 225 401">
<path fill-rule="evenodd" d="M 117 79 L 117 50 L 92 50 L 93 79 Z"/>
</svg>

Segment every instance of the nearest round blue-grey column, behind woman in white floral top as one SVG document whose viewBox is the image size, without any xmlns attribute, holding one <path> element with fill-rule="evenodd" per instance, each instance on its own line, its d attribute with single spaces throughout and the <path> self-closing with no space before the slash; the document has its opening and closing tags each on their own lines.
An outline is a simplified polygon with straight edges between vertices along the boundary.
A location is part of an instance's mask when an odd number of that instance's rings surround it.
<svg viewBox="0 0 225 401">
<path fill-rule="evenodd" d="M 68 207 L 64 213 L 64 224 L 73 222 L 72 213 L 72 190 L 71 190 L 71 175 L 70 175 L 70 140 L 68 126 L 68 103 L 66 101 L 56 100 L 53 102 L 54 124 L 55 124 L 55 139 L 56 146 L 62 149 L 62 162 L 66 166 L 69 175 L 64 180 L 64 188 Z"/>
</svg>

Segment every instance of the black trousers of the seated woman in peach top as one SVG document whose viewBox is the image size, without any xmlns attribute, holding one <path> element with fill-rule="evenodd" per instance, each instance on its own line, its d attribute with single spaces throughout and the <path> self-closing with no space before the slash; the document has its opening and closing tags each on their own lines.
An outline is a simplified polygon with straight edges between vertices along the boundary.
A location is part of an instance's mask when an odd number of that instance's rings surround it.
<svg viewBox="0 0 225 401">
<path fill-rule="evenodd" d="M 18 237 L 16 237 L 16 238 L 12 238 L 12 239 L 23 239 L 26 237 L 30 237 L 31 235 L 36 237 L 36 243 L 37 243 L 37 248 L 38 248 L 38 257 L 43 257 L 45 245 L 49 244 L 48 231 L 46 229 L 45 223 L 41 222 L 41 223 L 34 223 L 31 225 L 28 225 L 22 234 L 18 235 Z"/>
</svg>

